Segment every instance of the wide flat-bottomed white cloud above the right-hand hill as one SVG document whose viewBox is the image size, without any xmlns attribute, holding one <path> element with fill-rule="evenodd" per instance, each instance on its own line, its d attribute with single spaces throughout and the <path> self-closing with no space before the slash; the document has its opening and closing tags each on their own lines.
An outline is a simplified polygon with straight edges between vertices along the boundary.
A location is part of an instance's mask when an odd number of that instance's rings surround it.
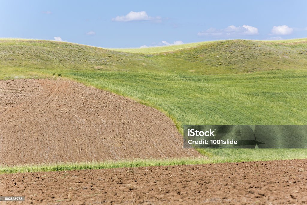
<svg viewBox="0 0 307 205">
<path fill-rule="evenodd" d="M 228 26 L 224 29 L 209 28 L 206 31 L 198 32 L 198 36 L 240 36 L 240 35 L 258 35 L 258 28 L 248 25 Z"/>
</svg>

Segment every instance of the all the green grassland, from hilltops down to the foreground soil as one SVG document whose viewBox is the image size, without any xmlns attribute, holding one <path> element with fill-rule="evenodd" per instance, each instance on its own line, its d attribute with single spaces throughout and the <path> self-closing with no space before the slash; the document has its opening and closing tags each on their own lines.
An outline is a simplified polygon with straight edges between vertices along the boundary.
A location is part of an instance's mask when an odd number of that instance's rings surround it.
<svg viewBox="0 0 307 205">
<path fill-rule="evenodd" d="M 0 79 L 59 75 L 155 107 L 181 133 L 185 124 L 307 124 L 307 39 L 117 50 L 0 39 Z M 200 152 L 203 163 L 307 158 L 304 149 Z"/>
</svg>

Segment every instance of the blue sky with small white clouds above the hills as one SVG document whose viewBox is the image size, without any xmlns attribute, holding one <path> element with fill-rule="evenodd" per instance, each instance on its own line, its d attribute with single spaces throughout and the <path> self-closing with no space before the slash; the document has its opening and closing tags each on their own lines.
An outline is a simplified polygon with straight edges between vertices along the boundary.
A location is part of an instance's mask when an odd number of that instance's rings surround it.
<svg viewBox="0 0 307 205">
<path fill-rule="evenodd" d="M 0 1 L 0 38 L 146 47 L 307 37 L 307 1 Z"/>
</svg>

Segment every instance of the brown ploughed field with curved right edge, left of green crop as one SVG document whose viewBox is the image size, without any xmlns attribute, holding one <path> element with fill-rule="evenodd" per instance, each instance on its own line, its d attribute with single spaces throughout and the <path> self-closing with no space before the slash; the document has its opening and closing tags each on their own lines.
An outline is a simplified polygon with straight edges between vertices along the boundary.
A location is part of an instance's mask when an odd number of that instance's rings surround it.
<svg viewBox="0 0 307 205">
<path fill-rule="evenodd" d="M 0 81 L 0 165 L 200 156 L 160 111 L 65 80 Z"/>
</svg>

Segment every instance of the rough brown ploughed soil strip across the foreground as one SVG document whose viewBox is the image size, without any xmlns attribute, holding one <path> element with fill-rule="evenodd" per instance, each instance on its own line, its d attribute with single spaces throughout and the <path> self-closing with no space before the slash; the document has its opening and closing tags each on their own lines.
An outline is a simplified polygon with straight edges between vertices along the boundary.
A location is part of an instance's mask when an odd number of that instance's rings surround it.
<svg viewBox="0 0 307 205">
<path fill-rule="evenodd" d="M 24 204 L 306 204 L 307 159 L 0 175 Z"/>
</svg>

